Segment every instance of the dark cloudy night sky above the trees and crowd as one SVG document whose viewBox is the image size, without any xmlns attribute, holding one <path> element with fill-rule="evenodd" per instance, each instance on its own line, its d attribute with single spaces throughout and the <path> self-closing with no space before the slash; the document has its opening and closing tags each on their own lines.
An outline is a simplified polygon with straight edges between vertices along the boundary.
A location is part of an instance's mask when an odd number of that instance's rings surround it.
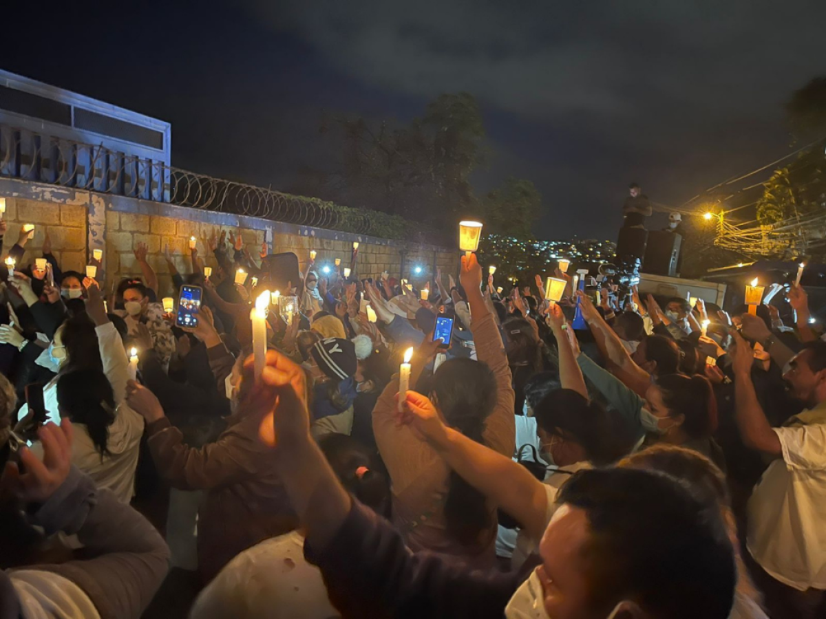
<svg viewBox="0 0 826 619">
<path fill-rule="evenodd" d="M 472 92 L 477 190 L 532 180 L 548 239 L 614 239 L 631 181 L 678 206 L 781 157 L 784 102 L 826 74 L 823 0 L 9 4 L 0 67 L 169 120 L 173 165 L 275 189 L 328 156 L 322 110 L 406 121 Z"/>
</svg>

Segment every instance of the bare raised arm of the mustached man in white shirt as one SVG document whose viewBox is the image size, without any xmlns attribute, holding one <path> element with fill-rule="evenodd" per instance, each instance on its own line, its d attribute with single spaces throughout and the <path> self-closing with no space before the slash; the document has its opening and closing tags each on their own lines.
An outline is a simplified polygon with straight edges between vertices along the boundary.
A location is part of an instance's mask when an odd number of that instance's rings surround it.
<svg viewBox="0 0 826 619">
<path fill-rule="evenodd" d="M 767 456 L 782 456 L 780 438 L 771 429 L 766 413 L 757 400 L 757 392 L 752 384 L 752 364 L 754 352 L 748 342 L 732 329 L 734 338 L 734 416 L 746 447 L 760 451 Z"/>
</svg>

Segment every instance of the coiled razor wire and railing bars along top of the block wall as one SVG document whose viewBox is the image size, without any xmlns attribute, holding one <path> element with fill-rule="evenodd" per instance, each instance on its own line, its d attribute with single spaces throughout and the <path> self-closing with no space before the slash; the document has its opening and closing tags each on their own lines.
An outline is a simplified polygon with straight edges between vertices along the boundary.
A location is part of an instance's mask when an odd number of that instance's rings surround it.
<svg viewBox="0 0 826 619">
<path fill-rule="evenodd" d="M 0 125 L 0 177 L 354 234 L 444 243 L 422 224 L 396 215 L 209 177 L 9 125 Z"/>
</svg>

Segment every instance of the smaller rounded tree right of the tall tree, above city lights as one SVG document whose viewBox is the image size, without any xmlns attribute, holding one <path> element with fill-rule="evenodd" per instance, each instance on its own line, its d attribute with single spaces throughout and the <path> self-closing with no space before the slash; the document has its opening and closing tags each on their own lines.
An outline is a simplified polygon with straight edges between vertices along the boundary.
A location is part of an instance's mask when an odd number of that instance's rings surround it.
<svg viewBox="0 0 826 619">
<path fill-rule="evenodd" d="M 499 189 L 490 191 L 483 202 L 487 225 L 492 233 L 527 237 L 539 217 L 542 195 L 533 182 L 509 177 Z"/>
</svg>

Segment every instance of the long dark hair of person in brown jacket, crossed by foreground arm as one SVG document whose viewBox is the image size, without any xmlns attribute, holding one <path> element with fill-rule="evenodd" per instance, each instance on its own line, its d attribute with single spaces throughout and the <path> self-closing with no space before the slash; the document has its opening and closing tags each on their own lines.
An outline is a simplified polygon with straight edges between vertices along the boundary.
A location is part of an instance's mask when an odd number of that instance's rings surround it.
<svg viewBox="0 0 826 619">
<path fill-rule="evenodd" d="M 449 359 L 433 376 L 433 390 L 449 426 L 484 445 L 485 420 L 496 401 L 496 380 L 491 368 L 472 359 Z M 485 495 L 453 470 L 444 517 L 449 535 L 463 546 L 477 544 L 480 534 L 494 522 Z"/>
</svg>

